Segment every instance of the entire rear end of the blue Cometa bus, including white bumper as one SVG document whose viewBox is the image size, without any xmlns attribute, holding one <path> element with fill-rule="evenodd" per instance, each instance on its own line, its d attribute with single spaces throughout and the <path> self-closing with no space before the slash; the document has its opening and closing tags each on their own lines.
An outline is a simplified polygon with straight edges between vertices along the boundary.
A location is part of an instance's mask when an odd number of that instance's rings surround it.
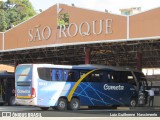
<svg viewBox="0 0 160 120">
<path fill-rule="evenodd" d="M 36 92 L 33 87 L 33 65 L 19 65 L 15 73 L 16 103 L 35 105 Z"/>
</svg>

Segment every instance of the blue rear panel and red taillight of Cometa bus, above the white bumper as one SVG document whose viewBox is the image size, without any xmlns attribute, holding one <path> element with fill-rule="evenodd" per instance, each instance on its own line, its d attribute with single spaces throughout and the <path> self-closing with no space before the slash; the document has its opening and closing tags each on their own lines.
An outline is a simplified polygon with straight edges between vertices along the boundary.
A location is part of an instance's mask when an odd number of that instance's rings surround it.
<svg viewBox="0 0 160 120">
<path fill-rule="evenodd" d="M 21 65 L 16 68 L 16 97 L 19 99 L 35 97 L 35 88 L 32 88 L 32 65 Z"/>
</svg>

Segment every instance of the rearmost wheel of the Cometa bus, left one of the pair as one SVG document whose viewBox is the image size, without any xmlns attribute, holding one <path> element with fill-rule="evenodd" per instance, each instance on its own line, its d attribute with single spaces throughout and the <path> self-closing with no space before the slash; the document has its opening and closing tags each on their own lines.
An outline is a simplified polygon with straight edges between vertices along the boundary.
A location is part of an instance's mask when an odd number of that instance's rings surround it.
<svg viewBox="0 0 160 120">
<path fill-rule="evenodd" d="M 64 98 L 60 98 L 58 100 L 58 106 L 57 106 L 57 110 L 59 111 L 63 111 L 67 109 L 67 101 Z"/>
</svg>

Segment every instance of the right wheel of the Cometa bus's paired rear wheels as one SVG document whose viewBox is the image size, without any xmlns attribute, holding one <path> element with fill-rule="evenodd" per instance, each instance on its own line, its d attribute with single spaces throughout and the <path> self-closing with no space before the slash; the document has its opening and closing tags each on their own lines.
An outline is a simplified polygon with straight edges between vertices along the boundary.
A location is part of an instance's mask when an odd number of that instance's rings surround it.
<svg viewBox="0 0 160 120">
<path fill-rule="evenodd" d="M 79 99 L 77 98 L 72 98 L 68 105 L 68 109 L 70 110 L 78 110 L 80 107 Z"/>
</svg>

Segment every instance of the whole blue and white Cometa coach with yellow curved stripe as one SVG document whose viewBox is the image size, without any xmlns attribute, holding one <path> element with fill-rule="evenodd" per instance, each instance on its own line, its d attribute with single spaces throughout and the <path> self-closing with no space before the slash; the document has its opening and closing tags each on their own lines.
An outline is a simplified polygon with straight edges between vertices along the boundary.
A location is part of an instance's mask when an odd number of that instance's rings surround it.
<svg viewBox="0 0 160 120">
<path fill-rule="evenodd" d="M 104 65 L 21 64 L 16 68 L 16 102 L 78 110 L 80 106 L 136 106 L 142 72 Z"/>
</svg>

